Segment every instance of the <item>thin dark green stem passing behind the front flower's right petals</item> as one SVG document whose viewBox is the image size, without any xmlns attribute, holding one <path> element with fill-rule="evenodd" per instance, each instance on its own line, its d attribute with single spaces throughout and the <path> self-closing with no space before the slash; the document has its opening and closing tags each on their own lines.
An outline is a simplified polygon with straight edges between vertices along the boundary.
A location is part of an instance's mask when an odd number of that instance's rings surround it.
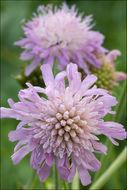
<svg viewBox="0 0 127 190">
<path fill-rule="evenodd" d="M 119 104 L 116 107 L 116 114 L 112 118 L 112 121 L 118 120 L 125 95 L 126 95 L 126 82 L 124 83 L 124 88 L 123 88 L 123 91 L 122 91 L 121 96 L 119 98 Z M 105 145 L 108 148 L 108 153 L 111 152 L 113 145 L 111 144 L 109 139 L 106 140 Z M 98 179 L 98 177 L 101 175 L 101 173 L 103 172 L 106 159 L 107 159 L 107 156 L 105 156 L 105 155 L 101 156 L 101 159 L 100 159 L 101 168 L 98 172 L 96 172 L 95 177 L 94 177 L 94 181 L 96 181 Z"/>
</svg>

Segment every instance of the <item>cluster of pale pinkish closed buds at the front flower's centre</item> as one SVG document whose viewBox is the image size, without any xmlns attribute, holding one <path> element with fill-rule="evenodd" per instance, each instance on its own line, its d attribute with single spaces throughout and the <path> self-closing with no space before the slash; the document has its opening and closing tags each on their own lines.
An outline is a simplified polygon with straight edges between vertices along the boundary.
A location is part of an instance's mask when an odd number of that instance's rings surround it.
<svg viewBox="0 0 127 190">
<path fill-rule="evenodd" d="M 54 153 L 60 153 L 60 157 L 66 153 L 72 153 L 74 146 L 82 139 L 87 126 L 87 121 L 81 119 L 75 107 L 67 110 L 63 104 L 58 107 L 54 117 L 46 119 L 46 123 L 46 125 L 52 126 L 48 128 L 50 134 L 48 146 L 50 150 L 52 147 Z M 47 142 L 44 143 L 43 147 L 45 144 Z"/>
</svg>

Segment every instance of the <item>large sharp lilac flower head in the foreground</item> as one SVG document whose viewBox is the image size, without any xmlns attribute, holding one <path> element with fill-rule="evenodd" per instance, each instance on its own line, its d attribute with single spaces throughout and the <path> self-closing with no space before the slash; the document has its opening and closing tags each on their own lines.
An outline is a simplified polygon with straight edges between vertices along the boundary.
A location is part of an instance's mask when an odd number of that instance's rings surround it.
<svg viewBox="0 0 127 190">
<path fill-rule="evenodd" d="M 55 160 L 63 180 L 71 182 L 77 169 L 82 184 L 88 185 L 88 170 L 97 171 L 101 166 L 93 153 L 106 154 L 107 150 L 97 136 L 103 134 L 115 145 L 118 142 L 114 138 L 126 137 L 121 124 L 103 120 L 107 113 L 114 114 L 111 106 L 117 104 L 116 98 L 93 86 L 97 80 L 94 75 L 81 81 L 76 64 L 68 64 L 66 71 L 55 78 L 51 65 L 42 65 L 41 70 L 45 89 L 27 83 L 28 88 L 19 92 L 20 102 L 9 99 L 11 108 L 1 108 L 2 118 L 21 120 L 17 129 L 9 133 L 10 141 L 19 141 L 12 160 L 18 164 L 32 152 L 30 163 L 42 182 Z M 64 78 L 68 79 L 68 87 Z"/>
</svg>

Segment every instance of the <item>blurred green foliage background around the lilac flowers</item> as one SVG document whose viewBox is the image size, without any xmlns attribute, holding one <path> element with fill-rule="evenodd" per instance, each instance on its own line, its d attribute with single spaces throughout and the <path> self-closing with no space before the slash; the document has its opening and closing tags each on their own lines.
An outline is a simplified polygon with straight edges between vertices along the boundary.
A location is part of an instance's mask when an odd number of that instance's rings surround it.
<svg viewBox="0 0 127 190">
<path fill-rule="evenodd" d="M 1 1 L 1 106 L 9 107 L 8 98 L 18 101 L 17 94 L 21 86 L 12 77 L 20 73 L 20 67 L 24 64 L 20 59 L 21 49 L 13 44 L 23 36 L 21 29 L 22 20 L 30 19 L 38 5 L 52 3 L 59 5 L 63 1 Z M 93 15 L 96 21 L 95 30 L 99 30 L 105 37 L 104 46 L 109 49 L 119 49 L 122 55 L 117 59 L 116 69 L 126 72 L 126 1 L 85 1 L 67 0 L 69 6 L 76 4 L 79 12 L 85 15 Z M 125 88 L 125 82 L 120 82 L 118 87 L 113 89 L 113 94 L 120 99 Z M 123 93 L 120 106 L 120 122 L 126 127 L 126 96 Z M 11 155 L 16 143 L 9 142 L 8 133 L 16 128 L 18 121 L 13 119 L 1 120 L 1 189 L 24 189 L 32 176 L 30 167 L 30 155 L 26 156 L 18 165 L 14 166 Z M 103 139 L 106 140 L 106 139 Z M 107 166 L 119 155 L 125 147 L 125 141 L 120 142 L 119 147 L 113 146 L 113 152 L 106 157 L 104 171 Z M 98 155 L 100 158 L 100 155 Z M 104 172 L 103 171 L 103 172 Z M 93 174 L 92 174 L 93 175 Z M 37 176 L 34 189 L 52 189 L 52 172 L 45 183 L 41 183 Z M 94 176 L 92 176 L 94 177 Z M 105 184 L 103 189 L 126 189 L 126 164 L 124 164 Z M 32 187 L 31 187 L 32 188 Z M 88 189 L 82 187 L 81 189 Z"/>
</svg>

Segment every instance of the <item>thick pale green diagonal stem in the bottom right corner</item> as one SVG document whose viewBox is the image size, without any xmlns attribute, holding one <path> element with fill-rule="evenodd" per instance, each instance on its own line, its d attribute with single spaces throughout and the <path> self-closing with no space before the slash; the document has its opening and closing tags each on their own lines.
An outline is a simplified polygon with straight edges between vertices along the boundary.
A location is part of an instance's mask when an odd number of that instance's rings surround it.
<svg viewBox="0 0 127 190">
<path fill-rule="evenodd" d="M 109 166 L 106 172 L 90 187 L 90 190 L 99 190 L 108 179 L 124 164 L 126 161 L 127 147 L 124 148 L 118 158 Z"/>
</svg>

